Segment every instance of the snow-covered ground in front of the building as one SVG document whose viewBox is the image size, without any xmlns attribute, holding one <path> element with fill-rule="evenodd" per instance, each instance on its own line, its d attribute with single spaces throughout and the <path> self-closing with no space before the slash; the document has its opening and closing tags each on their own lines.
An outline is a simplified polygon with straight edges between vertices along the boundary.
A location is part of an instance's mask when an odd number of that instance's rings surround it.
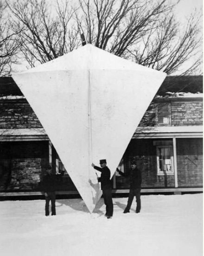
<svg viewBox="0 0 204 256">
<path fill-rule="evenodd" d="M 100 199 L 90 214 L 81 199 L 0 202 L 1 256 L 203 256 L 203 194 L 142 195 L 142 210 L 123 214 L 127 198 L 114 198 L 104 217 Z"/>
</svg>

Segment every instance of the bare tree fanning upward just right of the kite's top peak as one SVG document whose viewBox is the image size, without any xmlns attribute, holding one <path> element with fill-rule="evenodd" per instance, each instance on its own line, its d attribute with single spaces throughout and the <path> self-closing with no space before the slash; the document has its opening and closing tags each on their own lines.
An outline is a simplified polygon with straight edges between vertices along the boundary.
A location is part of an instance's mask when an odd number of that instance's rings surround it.
<svg viewBox="0 0 204 256">
<path fill-rule="evenodd" d="M 126 56 L 128 47 L 151 31 L 155 20 L 172 6 L 140 0 L 79 0 L 82 14 L 78 26 L 87 34 L 89 43 L 107 49 L 117 56 Z"/>
</svg>

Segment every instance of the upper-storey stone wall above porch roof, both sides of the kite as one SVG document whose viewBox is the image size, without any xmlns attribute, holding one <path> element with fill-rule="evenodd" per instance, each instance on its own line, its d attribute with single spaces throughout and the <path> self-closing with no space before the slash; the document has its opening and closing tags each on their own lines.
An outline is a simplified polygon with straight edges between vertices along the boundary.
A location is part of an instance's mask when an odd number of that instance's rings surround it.
<svg viewBox="0 0 204 256">
<path fill-rule="evenodd" d="M 159 102 L 161 104 L 161 102 Z M 164 104 L 167 104 L 166 101 Z M 171 109 L 171 125 L 187 126 L 203 124 L 202 101 L 168 101 Z M 157 103 L 152 102 L 140 121 L 140 127 L 169 126 L 159 124 L 157 118 Z M 42 128 L 40 121 L 26 100 L 0 101 L 1 128 Z"/>
</svg>

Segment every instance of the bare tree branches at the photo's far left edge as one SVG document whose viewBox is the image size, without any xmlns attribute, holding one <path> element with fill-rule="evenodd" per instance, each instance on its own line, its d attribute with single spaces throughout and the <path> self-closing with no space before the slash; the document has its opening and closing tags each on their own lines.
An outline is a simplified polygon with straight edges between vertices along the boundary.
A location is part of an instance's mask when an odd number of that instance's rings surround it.
<svg viewBox="0 0 204 256">
<path fill-rule="evenodd" d="M 5 13 L 6 6 L 0 2 L 0 76 L 8 75 L 11 65 L 18 63 L 16 54 L 20 46 L 20 41 L 15 40 L 16 33 L 11 30 Z"/>
</svg>

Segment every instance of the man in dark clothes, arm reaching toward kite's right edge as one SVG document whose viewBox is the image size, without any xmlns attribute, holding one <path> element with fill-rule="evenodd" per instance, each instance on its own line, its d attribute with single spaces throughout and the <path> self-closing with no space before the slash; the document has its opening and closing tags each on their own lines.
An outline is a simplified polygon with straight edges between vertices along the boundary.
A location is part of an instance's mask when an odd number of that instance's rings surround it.
<svg viewBox="0 0 204 256">
<path fill-rule="evenodd" d="M 136 196 L 136 202 L 137 202 L 136 213 L 139 213 L 141 209 L 140 192 L 141 192 L 142 176 L 141 176 L 140 170 L 136 167 L 136 162 L 131 161 L 131 169 L 127 173 L 121 172 L 118 168 L 116 170 L 120 175 L 124 177 L 129 176 L 130 178 L 130 191 L 129 191 L 128 201 L 127 201 L 127 206 L 123 213 L 130 212 L 134 195 Z"/>
</svg>

